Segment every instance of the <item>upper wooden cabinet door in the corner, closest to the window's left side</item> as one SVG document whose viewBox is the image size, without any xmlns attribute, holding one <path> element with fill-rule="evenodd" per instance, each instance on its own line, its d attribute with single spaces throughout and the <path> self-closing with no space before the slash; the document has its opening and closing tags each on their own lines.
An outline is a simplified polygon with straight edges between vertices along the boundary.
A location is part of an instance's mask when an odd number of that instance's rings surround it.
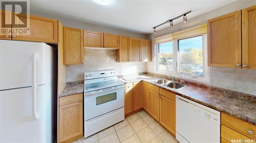
<svg viewBox="0 0 256 143">
<path fill-rule="evenodd" d="M 151 41 L 150 40 L 145 40 L 141 39 L 141 61 L 142 62 L 148 62 L 150 61 L 150 54 L 151 54 Z"/>
</svg>

